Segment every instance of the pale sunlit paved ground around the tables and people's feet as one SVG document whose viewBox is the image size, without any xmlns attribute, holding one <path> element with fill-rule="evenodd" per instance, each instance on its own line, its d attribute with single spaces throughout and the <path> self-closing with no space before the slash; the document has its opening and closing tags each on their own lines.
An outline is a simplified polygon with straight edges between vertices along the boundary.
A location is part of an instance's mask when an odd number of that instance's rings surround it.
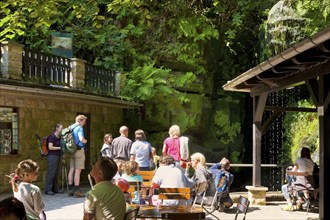
<svg viewBox="0 0 330 220">
<path fill-rule="evenodd" d="M 87 192 L 88 188 L 82 189 L 83 192 Z M 235 199 L 238 195 L 245 195 L 243 193 L 232 193 L 232 197 Z M 271 195 L 271 193 L 269 193 Z M 274 196 L 275 195 L 275 196 Z M 265 206 L 250 206 L 246 215 L 247 220 L 307 220 L 307 219 L 318 219 L 318 209 L 313 208 L 307 214 L 304 211 L 282 211 L 281 207 L 285 206 L 285 201 L 280 199 L 274 199 L 279 193 L 272 194 L 273 199 L 276 201 L 269 201 Z M 10 194 L 2 194 L 1 199 L 10 196 Z M 268 194 L 267 194 L 268 198 Z M 82 219 L 83 217 L 83 198 L 68 197 L 67 194 L 56 194 L 54 196 L 44 195 L 43 197 L 46 205 L 47 219 L 49 220 L 76 220 Z M 267 199 L 268 201 L 268 199 Z M 230 208 L 224 212 L 214 212 L 214 214 L 221 220 L 232 220 L 235 219 L 236 208 Z M 213 217 L 207 217 L 207 219 L 215 219 Z M 239 216 L 238 219 L 243 219 L 243 216 Z M 184 220 L 184 219 L 183 219 Z"/>
</svg>

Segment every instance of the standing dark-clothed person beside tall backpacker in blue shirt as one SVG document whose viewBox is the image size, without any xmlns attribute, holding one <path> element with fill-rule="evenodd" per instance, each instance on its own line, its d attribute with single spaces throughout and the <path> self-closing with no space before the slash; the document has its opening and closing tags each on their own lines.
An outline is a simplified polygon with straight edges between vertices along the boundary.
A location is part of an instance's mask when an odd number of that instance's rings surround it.
<svg viewBox="0 0 330 220">
<path fill-rule="evenodd" d="M 45 194 L 54 195 L 55 193 L 63 193 L 58 187 L 57 177 L 61 166 L 61 141 L 60 134 L 63 129 L 61 124 L 56 124 L 53 133 L 47 138 L 48 154 L 47 163 L 48 170 L 46 176 Z"/>
</svg>

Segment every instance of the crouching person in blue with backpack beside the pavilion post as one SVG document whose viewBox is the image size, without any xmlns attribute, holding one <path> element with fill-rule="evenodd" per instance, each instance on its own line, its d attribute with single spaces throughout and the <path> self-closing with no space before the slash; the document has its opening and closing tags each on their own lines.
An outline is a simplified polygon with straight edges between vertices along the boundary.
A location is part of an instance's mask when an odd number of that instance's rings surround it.
<svg viewBox="0 0 330 220">
<path fill-rule="evenodd" d="M 233 205 L 233 200 L 229 196 L 229 191 L 230 186 L 234 181 L 234 175 L 229 172 L 230 161 L 224 157 L 219 163 L 211 166 L 209 170 L 213 173 L 215 186 L 218 186 L 218 182 L 222 177 L 226 177 L 224 184 L 222 184 L 220 188 L 216 187 L 216 190 L 218 193 L 222 193 L 220 204 L 226 208 L 230 208 Z"/>
</svg>

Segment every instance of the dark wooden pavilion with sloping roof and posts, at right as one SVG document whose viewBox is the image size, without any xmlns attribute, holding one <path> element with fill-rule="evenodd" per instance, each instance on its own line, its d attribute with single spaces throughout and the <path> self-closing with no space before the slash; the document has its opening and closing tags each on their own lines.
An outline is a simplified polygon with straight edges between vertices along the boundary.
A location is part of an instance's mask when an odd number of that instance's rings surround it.
<svg viewBox="0 0 330 220">
<path fill-rule="evenodd" d="M 268 94 L 305 84 L 315 109 L 266 106 Z M 317 112 L 319 118 L 320 188 L 319 217 L 330 219 L 325 205 L 329 203 L 330 188 L 325 174 L 330 172 L 330 28 L 305 39 L 297 45 L 246 71 L 223 88 L 248 92 L 253 97 L 253 186 L 261 187 L 261 137 L 285 111 Z M 262 120 L 265 111 L 272 115 Z M 326 163 L 328 161 L 328 163 Z"/>
</svg>

